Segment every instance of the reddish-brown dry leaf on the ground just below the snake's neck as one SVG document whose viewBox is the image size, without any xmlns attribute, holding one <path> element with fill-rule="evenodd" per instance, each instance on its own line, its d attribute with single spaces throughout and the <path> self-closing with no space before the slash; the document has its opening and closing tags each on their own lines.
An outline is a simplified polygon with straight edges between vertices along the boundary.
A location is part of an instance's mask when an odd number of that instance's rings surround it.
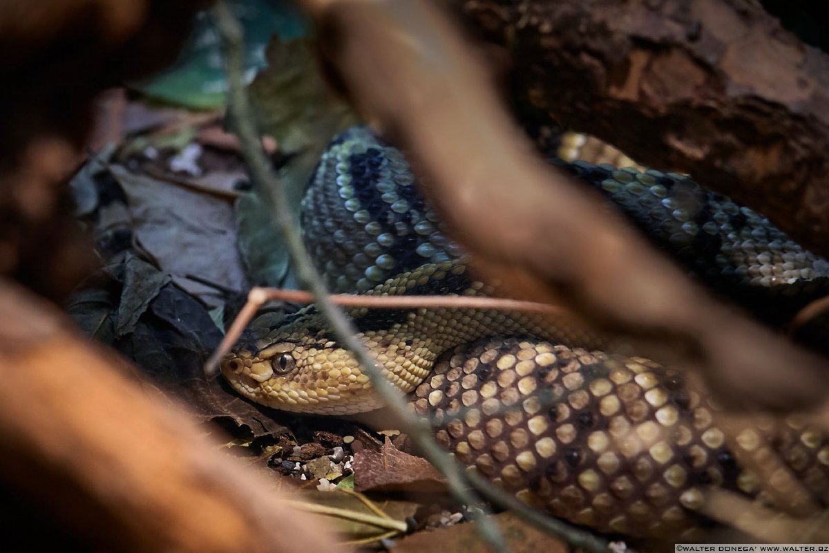
<svg viewBox="0 0 829 553">
<path fill-rule="evenodd" d="M 388 438 L 380 451 L 356 452 L 352 466 L 354 488 L 359 491 L 442 492 L 446 488 L 444 476 L 429 461 L 403 453 Z"/>
</svg>

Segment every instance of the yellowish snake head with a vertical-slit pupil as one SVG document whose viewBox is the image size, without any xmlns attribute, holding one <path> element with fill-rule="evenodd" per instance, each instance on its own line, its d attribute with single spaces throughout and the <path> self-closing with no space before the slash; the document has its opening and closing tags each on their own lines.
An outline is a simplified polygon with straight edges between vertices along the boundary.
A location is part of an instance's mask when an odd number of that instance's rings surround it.
<svg viewBox="0 0 829 553">
<path fill-rule="evenodd" d="M 242 348 L 221 362 L 236 391 L 279 410 L 347 415 L 381 407 L 368 376 L 336 342 L 292 332 Z"/>
</svg>

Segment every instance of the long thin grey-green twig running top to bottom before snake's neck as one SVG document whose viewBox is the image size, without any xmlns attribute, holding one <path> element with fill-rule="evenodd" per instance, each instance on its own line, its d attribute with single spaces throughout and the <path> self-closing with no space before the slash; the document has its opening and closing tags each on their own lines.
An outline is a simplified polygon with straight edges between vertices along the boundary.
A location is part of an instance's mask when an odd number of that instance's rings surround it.
<svg viewBox="0 0 829 553">
<path fill-rule="evenodd" d="M 414 416 L 406 409 L 401 399 L 400 390 L 396 389 L 381 373 L 381 369 L 375 365 L 375 361 L 366 351 L 366 347 L 355 337 L 356 329 L 351 321 L 328 301 L 327 289 L 323 284 L 317 270 L 308 256 L 308 252 L 299 235 L 298 226 L 294 221 L 293 213 L 290 211 L 287 194 L 274 174 L 269 159 L 265 156 L 262 143 L 254 124 L 250 101 L 247 98 L 244 87 L 244 64 L 245 49 L 242 29 L 230 6 L 226 2 L 216 2 L 212 8 L 213 17 L 216 20 L 216 27 L 221 36 L 223 44 L 223 56 L 225 71 L 228 81 L 228 102 L 230 109 L 235 115 L 235 133 L 239 136 L 240 147 L 245 161 L 248 163 L 250 174 L 257 186 L 266 205 L 274 211 L 274 219 L 284 235 L 288 251 L 295 264 L 299 282 L 305 288 L 310 289 L 320 312 L 327 318 L 332 326 L 332 332 L 337 341 L 343 347 L 349 349 L 356 360 L 366 369 L 376 393 L 389 405 L 395 415 L 400 417 L 408 426 L 410 435 L 424 452 L 429 462 L 443 473 L 447 479 L 448 488 L 458 502 L 473 505 L 478 502 L 477 494 L 465 487 L 464 474 L 460 465 L 446 452 L 440 449 L 434 441 L 429 426 L 424 420 Z M 493 525 L 483 517 L 478 517 L 478 531 L 482 537 L 497 551 L 507 551 L 507 545 L 497 526 Z"/>
</svg>

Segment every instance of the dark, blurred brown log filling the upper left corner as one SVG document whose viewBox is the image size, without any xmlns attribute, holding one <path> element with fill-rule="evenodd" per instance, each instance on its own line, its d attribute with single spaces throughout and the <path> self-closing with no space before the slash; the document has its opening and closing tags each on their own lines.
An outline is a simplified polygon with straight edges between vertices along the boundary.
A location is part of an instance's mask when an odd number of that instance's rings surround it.
<svg viewBox="0 0 829 553">
<path fill-rule="evenodd" d="M 100 90 L 172 62 L 208 0 L 0 0 L 0 275 L 60 302 L 95 258 L 65 178 Z"/>
</svg>

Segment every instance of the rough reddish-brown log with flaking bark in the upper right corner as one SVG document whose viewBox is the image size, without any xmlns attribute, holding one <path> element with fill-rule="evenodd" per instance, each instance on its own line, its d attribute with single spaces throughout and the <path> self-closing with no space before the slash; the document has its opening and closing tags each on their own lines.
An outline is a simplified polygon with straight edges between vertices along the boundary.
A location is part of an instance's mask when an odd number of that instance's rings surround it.
<svg viewBox="0 0 829 553">
<path fill-rule="evenodd" d="M 829 56 L 744 0 L 452 0 L 560 123 L 829 255 Z"/>
</svg>

